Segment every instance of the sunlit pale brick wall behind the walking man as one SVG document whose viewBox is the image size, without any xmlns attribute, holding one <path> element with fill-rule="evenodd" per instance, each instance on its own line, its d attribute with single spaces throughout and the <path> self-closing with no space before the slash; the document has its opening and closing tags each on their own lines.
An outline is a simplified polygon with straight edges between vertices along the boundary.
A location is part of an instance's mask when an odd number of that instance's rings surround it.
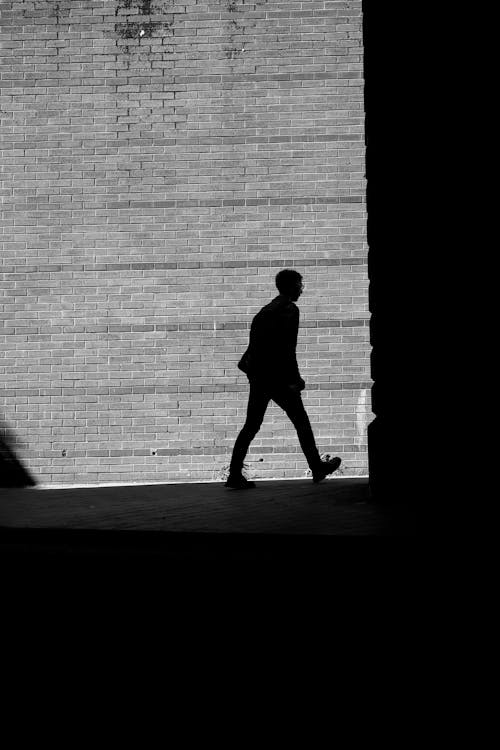
<svg viewBox="0 0 500 750">
<path fill-rule="evenodd" d="M 0 420 L 39 482 L 211 480 L 283 267 L 321 452 L 371 419 L 361 2 L 1 0 Z M 303 476 L 272 405 L 249 474 Z"/>
</svg>

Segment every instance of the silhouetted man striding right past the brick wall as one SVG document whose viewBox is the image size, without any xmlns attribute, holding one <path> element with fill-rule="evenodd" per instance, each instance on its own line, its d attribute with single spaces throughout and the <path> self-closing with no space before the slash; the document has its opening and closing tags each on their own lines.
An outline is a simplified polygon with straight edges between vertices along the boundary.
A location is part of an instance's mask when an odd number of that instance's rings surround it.
<svg viewBox="0 0 500 750">
<path fill-rule="evenodd" d="M 285 269 L 276 275 L 279 295 L 252 320 L 250 342 L 238 367 L 250 381 L 247 417 L 236 438 L 226 487 L 255 487 L 242 474 L 250 443 L 259 431 L 272 399 L 292 421 L 314 482 L 320 482 L 340 466 L 340 458 L 322 461 L 300 392 L 305 388 L 297 365 L 296 346 L 299 308 L 295 304 L 304 285 L 297 271 Z"/>
</svg>

